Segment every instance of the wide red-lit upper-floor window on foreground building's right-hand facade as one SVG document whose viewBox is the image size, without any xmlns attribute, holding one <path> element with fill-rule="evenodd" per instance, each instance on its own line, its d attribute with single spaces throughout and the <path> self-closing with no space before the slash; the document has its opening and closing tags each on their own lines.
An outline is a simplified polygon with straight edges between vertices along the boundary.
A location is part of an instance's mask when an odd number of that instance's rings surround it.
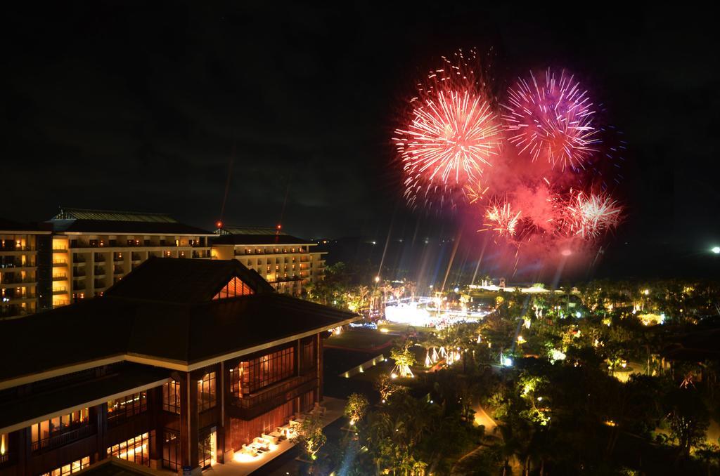
<svg viewBox="0 0 720 476">
<path fill-rule="evenodd" d="M 240 362 L 242 370 L 235 370 L 235 372 L 240 375 L 242 393 L 253 393 L 287 377 L 292 377 L 295 372 L 294 351 L 294 347 L 287 347 L 249 362 Z M 239 393 L 238 396 L 240 396 Z"/>
</svg>

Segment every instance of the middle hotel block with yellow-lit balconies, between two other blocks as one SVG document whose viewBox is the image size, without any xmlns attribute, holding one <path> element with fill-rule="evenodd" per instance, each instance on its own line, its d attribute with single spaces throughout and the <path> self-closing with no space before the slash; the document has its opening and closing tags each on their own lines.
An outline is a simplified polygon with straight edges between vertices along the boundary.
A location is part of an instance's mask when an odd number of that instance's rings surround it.
<svg viewBox="0 0 720 476">
<path fill-rule="evenodd" d="M 102 295 L 149 257 L 210 259 L 212 233 L 166 214 L 60 208 L 53 226 L 53 307 Z"/>
</svg>

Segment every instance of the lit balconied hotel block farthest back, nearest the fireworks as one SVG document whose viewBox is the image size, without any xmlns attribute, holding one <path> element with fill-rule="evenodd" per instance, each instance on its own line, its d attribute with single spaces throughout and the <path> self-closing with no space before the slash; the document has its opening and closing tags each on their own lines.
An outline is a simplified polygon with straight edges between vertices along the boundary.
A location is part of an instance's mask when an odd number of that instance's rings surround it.
<svg viewBox="0 0 720 476">
<path fill-rule="evenodd" d="M 326 252 L 315 250 L 317 243 L 275 228 L 223 226 L 215 233 L 213 257 L 239 260 L 281 293 L 300 296 L 323 279 Z"/>
</svg>

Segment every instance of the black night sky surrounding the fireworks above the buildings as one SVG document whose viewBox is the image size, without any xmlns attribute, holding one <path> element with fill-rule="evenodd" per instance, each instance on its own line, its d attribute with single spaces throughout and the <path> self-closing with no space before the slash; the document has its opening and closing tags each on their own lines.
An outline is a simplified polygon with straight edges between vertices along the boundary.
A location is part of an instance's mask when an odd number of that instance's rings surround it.
<svg viewBox="0 0 720 476">
<path fill-rule="evenodd" d="M 624 131 L 618 193 L 629 219 L 609 239 L 606 267 L 703 267 L 720 243 L 711 15 L 684 4 L 502 3 L 6 11 L 0 216 L 48 219 L 65 205 L 165 211 L 212 228 L 235 144 L 226 223 L 274 225 L 287 193 L 284 227 L 306 237 L 384 238 L 393 217 L 400 232 L 418 219 L 428 234 L 453 229 L 399 201 L 390 137 L 439 55 L 492 47 L 501 85 L 529 68 L 570 68 Z"/>
</svg>

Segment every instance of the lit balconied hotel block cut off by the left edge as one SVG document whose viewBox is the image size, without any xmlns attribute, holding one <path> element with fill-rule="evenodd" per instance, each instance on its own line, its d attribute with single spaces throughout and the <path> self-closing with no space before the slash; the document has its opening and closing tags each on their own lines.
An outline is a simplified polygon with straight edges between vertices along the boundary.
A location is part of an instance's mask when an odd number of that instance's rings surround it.
<svg viewBox="0 0 720 476">
<path fill-rule="evenodd" d="M 0 219 L 0 319 L 48 308 L 50 230 Z"/>
</svg>

